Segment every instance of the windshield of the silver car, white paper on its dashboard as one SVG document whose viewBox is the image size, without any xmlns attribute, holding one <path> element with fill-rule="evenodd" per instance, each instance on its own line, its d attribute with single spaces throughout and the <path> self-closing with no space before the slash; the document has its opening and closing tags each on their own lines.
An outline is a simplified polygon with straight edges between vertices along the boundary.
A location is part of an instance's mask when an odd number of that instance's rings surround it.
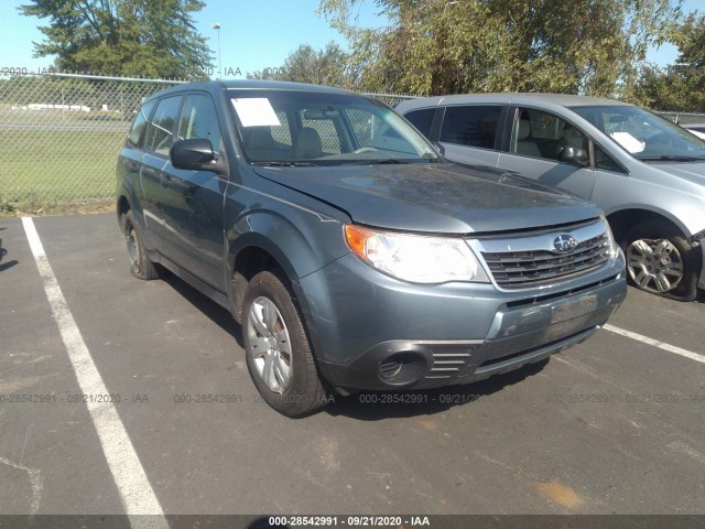
<svg viewBox="0 0 705 529">
<path fill-rule="evenodd" d="M 705 141 L 668 119 L 631 105 L 573 107 L 637 160 L 705 160 Z"/>
</svg>

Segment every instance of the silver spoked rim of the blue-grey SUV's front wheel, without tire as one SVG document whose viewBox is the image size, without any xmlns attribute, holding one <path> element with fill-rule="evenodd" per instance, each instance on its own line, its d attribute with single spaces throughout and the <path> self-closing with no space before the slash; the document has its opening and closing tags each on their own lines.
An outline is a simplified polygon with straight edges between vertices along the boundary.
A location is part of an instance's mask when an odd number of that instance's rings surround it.
<svg viewBox="0 0 705 529">
<path fill-rule="evenodd" d="M 269 299 L 259 296 L 250 305 L 247 334 L 254 367 L 264 386 L 283 393 L 291 380 L 291 339 L 282 314 Z"/>
</svg>

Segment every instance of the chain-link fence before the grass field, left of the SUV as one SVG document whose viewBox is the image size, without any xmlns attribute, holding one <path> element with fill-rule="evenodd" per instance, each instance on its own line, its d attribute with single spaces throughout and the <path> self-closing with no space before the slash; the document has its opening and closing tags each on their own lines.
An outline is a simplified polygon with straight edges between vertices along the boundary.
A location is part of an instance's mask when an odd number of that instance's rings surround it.
<svg viewBox="0 0 705 529">
<path fill-rule="evenodd" d="M 0 207 L 108 201 L 145 96 L 176 82 L 70 74 L 0 77 Z"/>
</svg>

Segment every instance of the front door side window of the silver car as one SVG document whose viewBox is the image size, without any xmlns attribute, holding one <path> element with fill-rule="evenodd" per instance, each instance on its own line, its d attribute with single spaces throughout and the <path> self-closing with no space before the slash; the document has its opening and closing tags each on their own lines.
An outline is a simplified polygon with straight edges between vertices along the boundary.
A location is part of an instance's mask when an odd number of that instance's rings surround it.
<svg viewBox="0 0 705 529">
<path fill-rule="evenodd" d="M 518 117 L 512 129 L 510 152 L 578 165 L 578 160 L 587 161 L 587 137 L 563 118 L 527 108 L 519 109 Z"/>
</svg>

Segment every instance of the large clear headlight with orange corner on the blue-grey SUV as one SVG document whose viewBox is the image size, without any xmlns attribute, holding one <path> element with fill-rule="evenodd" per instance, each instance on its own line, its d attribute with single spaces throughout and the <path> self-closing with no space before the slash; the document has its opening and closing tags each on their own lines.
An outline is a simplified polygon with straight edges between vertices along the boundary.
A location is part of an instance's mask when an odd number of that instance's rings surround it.
<svg viewBox="0 0 705 529">
<path fill-rule="evenodd" d="M 357 256 L 381 272 L 412 283 L 489 282 L 465 240 L 375 231 L 346 225 Z"/>
</svg>

